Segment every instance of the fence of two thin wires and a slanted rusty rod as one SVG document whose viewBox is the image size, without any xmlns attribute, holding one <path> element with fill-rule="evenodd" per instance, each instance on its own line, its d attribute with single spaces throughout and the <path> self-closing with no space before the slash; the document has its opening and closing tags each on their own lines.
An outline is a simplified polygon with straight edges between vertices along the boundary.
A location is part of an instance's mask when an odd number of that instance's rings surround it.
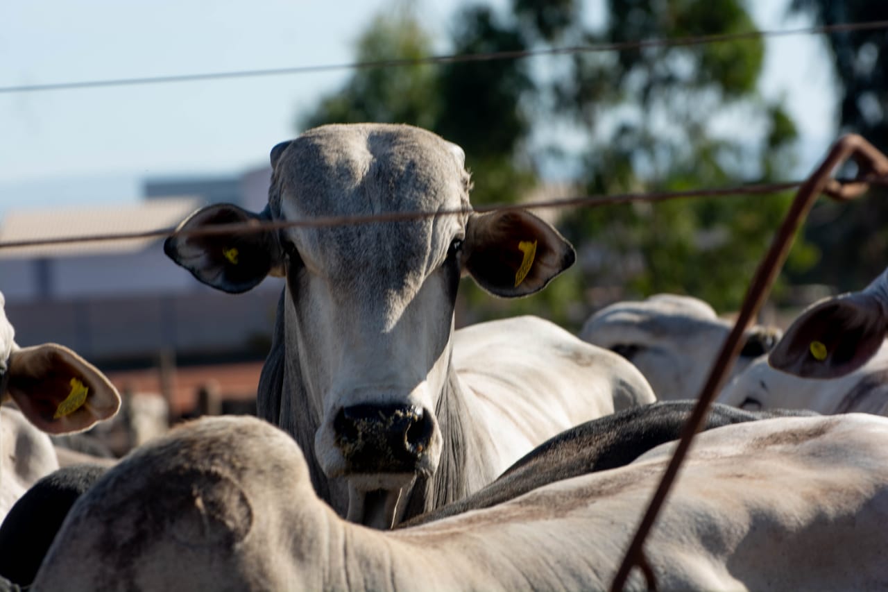
<svg viewBox="0 0 888 592">
<path fill-rule="evenodd" d="M 874 30 L 888 28 L 888 21 L 876 21 L 868 23 L 847 23 L 841 25 L 831 25 L 824 27 L 788 29 L 781 31 L 749 31 L 739 34 L 725 35 L 708 35 L 681 37 L 673 39 L 652 39 L 646 41 L 624 42 L 616 44 L 601 44 L 586 47 L 566 47 L 540 51 L 522 51 L 522 52 L 494 52 L 484 54 L 466 54 L 466 55 L 450 55 L 450 56 L 434 56 L 419 60 L 384 60 L 377 62 L 363 62 L 345 65 L 333 66 L 313 66 L 313 67 L 297 67 L 297 68 L 279 68 L 268 70 L 250 70 L 239 72 L 223 72 L 210 74 L 194 74 L 183 76 L 159 76 L 147 78 L 127 78 L 115 80 L 97 80 L 83 81 L 71 83 L 55 83 L 55 84 L 32 84 L 21 86 L 0 87 L 0 93 L 10 92 L 47 92 L 63 89 L 85 89 L 96 87 L 122 86 L 133 84 L 170 84 L 183 83 L 198 80 L 211 80 L 220 78 L 249 77 L 249 76 L 281 76 L 290 74 L 301 74 L 307 72 L 329 71 L 331 69 L 344 68 L 397 68 L 403 66 L 412 66 L 425 63 L 456 63 L 481 60 L 517 60 L 536 55 L 555 55 L 563 53 L 575 52 L 602 52 L 602 51 L 625 51 L 630 49 L 641 49 L 644 47 L 654 46 L 680 46 L 694 44 L 715 44 L 727 41 L 741 40 L 753 37 L 763 36 L 789 36 L 789 35 L 812 35 L 825 34 L 833 32 L 848 32 L 860 30 Z M 836 169 L 836 166 L 849 157 L 857 157 L 859 164 L 858 176 L 853 179 L 830 179 L 829 174 Z M 702 389 L 702 393 L 698 397 L 698 403 L 694 408 L 694 412 L 686 422 L 683 429 L 681 440 L 677 446 L 676 452 L 670 460 L 670 465 L 662 477 L 662 482 L 654 493 L 651 504 L 646 508 L 646 514 L 641 524 L 638 526 L 636 536 L 630 543 L 630 548 L 623 557 L 622 564 L 614 577 L 612 589 L 621 590 L 630 574 L 630 571 L 638 566 L 646 572 L 648 576 L 648 584 L 655 586 L 655 580 L 650 580 L 653 574 L 649 572 L 646 559 L 644 557 L 643 544 L 646 534 L 653 527 L 654 520 L 657 516 L 659 508 L 666 499 L 671 484 L 678 475 L 685 454 L 688 450 L 690 442 L 694 438 L 694 434 L 699 431 L 702 424 L 702 418 L 705 416 L 715 393 L 721 382 L 724 380 L 726 372 L 733 364 L 733 359 L 737 356 L 740 349 L 741 333 L 747 328 L 751 319 L 757 313 L 758 308 L 764 301 L 776 274 L 779 272 L 783 261 L 789 251 L 798 225 L 805 219 L 805 215 L 810 210 L 813 200 L 821 193 L 826 193 L 835 199 L 848 200 L 859 196 L 860 193 L 868 188 L 869 185 L 888 186 L 888 159 L 872 148 L 868 142 L 857 136 L 845 136 L 836 142 L 830 150 L 829 155 L 822 161 L 821 165 L 805 180 L 785 181 L 779 183 L 766 184 L 743 184 L 726 188 L 697 188 L 686 191 L 660 191 L 660 192 L 644 192 L 644 193 L 628 193 L 620 195 L 602 195 L 602 196 L 573 196 L 564 197 L 555 200 L 547 200 L 545 202 L 524 203 L 524 204 L 499 204 L 491 206 L 480 206 L 478 208 L 448 210 L 439 212 L 385 212 L 370 216 L 335 216 L 326 218 L 314 218 L 309 220 L 272 220 L 268 222 L 241 223 L 241 224 L 224 224 L 210 228 L 195 228 L 186 231 L 177 231 L 176 228 L 159 228 L 147 232 L 134 233 L 117 233 L 117 234 L 94 234 L 84 236 L 64 236 L 64 237 L 47 237 L 34 240 L 0 242 L 0 249 L 12 249 L 16 247 L 49 245 L 49 244 L 71 244 L 83 242 L 99 242 L 127 240 L 133 238 L 150 238 L 180 235 L 213 235 L 226 233 L 242 233 L 248 234 L 252 232 L 264 232 L 274 229 L 291 228 L 291 227 L 331 227 L 345 224 L 368 224 L 378 222 L 391 222 L 398 220 L 417 220 L 423 218 L 440 217 L 447 215 L 464 215 L 470 212 L 502 212 L 518 209 L 541 209 L 541 208 L 564 208 L 564 207 L 599 207 L 614 204 L 630 204 L 635 202 L 660 202 L 678 198 L 722 198 L 728 196 L 749 196 L 762 195 L 769 193 L 778 193 L 789 189 L 797 189 L 797 197 L 790 207 L 786 218 L 781 224 L 774 237 L 773 244 L 765 258 L 762 260 L 755 277 L 749 284 L 749 292 L 743 302 L 741 313 L 738 316 L 733 330 L 725 340 L 718 359 L 710 370 L 710 376 Z"/>
</svg>

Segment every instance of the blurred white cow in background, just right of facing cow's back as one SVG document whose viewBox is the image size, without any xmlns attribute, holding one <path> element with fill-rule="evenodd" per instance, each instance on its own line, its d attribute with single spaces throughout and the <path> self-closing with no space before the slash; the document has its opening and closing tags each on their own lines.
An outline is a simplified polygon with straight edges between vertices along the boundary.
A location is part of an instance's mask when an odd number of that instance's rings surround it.
<svg viewBox="0 0 888 592">
<path fill-rule="evenodd" d="M 624 356 L 645 375 L 657 399 L 673 401 L 700 394 L 732 326 L 703 300 L 655 294 L 602 308 L 583 324 L 580 339 Z M 770 351 L 780 336 L 775 327 L 751 327 L 731 376 Z"/>
</svg>

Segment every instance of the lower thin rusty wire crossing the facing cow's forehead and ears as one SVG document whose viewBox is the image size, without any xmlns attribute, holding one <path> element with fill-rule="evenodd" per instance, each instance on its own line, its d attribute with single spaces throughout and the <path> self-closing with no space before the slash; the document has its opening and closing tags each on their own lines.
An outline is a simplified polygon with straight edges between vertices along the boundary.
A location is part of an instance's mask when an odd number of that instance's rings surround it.
<svg viewBox="0 0 888 592">
<path fill-rule="evenodd" d="M 836 181 L 838 187 L 843 182 Z M 854 182 L 857 182 L 856 180 Z M 305 220 L 250 220 L 248 222 L 234 222 L 230 224 L 218 224 L 211 227 L 189 228 L 177 230 L 177 228 L 157 228 L 140 232 L 104 233 L 82 236 L 57 236 L 52 238 L 35 238 L 20 241 L 6 241 L 0 243 L 0 250 L 16 247 L 44 246 L 51 244 L 75 244 L 98 243 L 107 241 L 131 240 L 139 238 L 163 238 L 166 236 L 218 236 L 237 233 L 247 235 L 281 228 L 325 228 L 333 226 L 370 224 L 374 222 L 396 222 L 402 220 L 419 220 L 425 218 L 437 218 L 448 215 L 465 215 L 472 212 L 514 212 L 517 210 L 542 210 L 551 208 L 565 208 L 573 206 L 600 207 L 603 205 L 631 204 L 636 202 L 662 202 L 671 199 L 685 197 L 728 197 L 749 196 L 768 193 L 777 193 L 788 189 L 797 188 L 804 181 L 784 181 L 778 183 L 743 184 L 725 188 L 686 189 L 683 191 L 659 191 L 649 193 L 624 193 L 618 195 L 598 196 L 574 196 L 560 199 L 525 202 L 522 204 L 496 204 L 480 205 L 471 208 L 457 208 L 439 210 L 437 212 L 384 212 L 372 215 L 360 216 L 325 216 L 309 218 Z"/>
</svg>

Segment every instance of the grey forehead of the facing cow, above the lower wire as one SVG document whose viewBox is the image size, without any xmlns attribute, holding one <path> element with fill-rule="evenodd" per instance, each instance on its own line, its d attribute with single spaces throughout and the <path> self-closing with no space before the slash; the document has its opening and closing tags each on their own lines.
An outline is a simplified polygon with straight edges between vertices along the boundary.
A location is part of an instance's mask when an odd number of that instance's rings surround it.
<svg viewBox="0 0 888 592">
<path fill-rule="evenodd" d="M 468 207 L 464 158 L 456 144 L 409 125 L 324 125 L 281 154 L 269 205 L 281 217 L 281 199 L 295 193 L 309 215 Z"/>
</svg>

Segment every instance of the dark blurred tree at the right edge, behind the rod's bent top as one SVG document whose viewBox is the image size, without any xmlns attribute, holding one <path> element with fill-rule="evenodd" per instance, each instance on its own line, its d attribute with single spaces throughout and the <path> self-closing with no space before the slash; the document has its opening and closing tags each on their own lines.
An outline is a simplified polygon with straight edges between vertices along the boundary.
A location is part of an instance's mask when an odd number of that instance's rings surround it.
<svg viewBox="0 0 888 592">
<path fill-rule="evenodd" d="M 868 0 L 793 0 L 792 9 L 824 25 L 888 20 L 888 3 Z M 855 132 L 888 153 L 888 32 L 846 31 L 826 37 L 838 81 L 841 132 Z M 821 200 L 805 236 L 823 253 L 812 274 L 841 291 L 859 290 L 886 265 L 888 191 L 874 188 L 852 204 Z"/>
</svg>

